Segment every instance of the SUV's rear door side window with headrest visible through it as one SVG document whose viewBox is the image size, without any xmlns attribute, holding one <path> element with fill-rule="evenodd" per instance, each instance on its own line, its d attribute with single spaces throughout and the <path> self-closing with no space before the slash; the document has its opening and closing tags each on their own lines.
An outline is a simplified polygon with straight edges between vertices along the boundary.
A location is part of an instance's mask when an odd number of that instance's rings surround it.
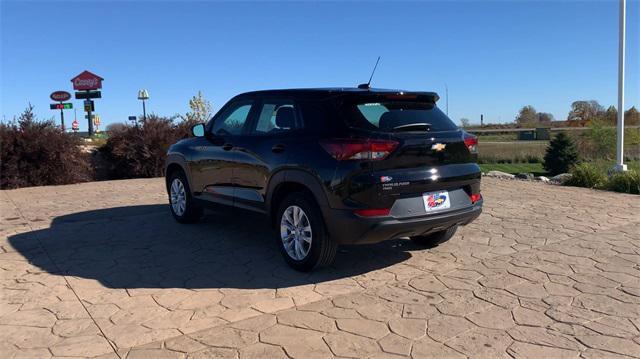
<svg viewBox="0 0 640 359">
<path fill-rule="evenodd" d="M 292 101 L 265 100 L 251 132 L 254 135 L 266 135 L 293 131 L 301 127 L 296 106 Z"/>
</svg>

